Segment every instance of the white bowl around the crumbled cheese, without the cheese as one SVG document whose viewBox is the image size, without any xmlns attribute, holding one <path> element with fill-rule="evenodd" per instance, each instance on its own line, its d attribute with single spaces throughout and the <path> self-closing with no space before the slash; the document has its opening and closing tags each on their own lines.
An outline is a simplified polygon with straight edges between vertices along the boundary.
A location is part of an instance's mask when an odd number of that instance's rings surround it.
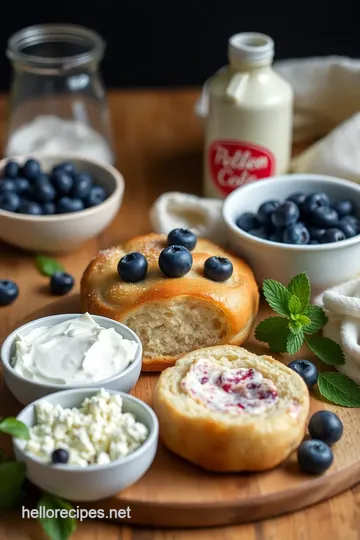
<svg viewBox="0 0 360 540">
<path fill-rule="evenodd" d="M 79 407 L 82 401 L 100 390 L 75 389 L 51 394 L 46 398 L 31 403 L 21 411 L 17 419 L 31 427 L 35 423 L 34 406 L 41 401 L 60 404 L 62 407 Z M 17 461 L 26 465 L 26 476 L 40 489 L 72 501 L 95 501 L 115 495 L 141 478 L 152 464 L 157 444 L 159 425 L 154 411 L 139 399 L 120 394 L 124 412 L 132 413 L 136 420 L 146 425 L 149 436 L 146 441 L 128 456 L 119 458 L 106 465 L 53 465 L 44 463 L 37 457 L 24 452 L 24 441 L 14 439 L 14 453 Z"/>
</svg>

